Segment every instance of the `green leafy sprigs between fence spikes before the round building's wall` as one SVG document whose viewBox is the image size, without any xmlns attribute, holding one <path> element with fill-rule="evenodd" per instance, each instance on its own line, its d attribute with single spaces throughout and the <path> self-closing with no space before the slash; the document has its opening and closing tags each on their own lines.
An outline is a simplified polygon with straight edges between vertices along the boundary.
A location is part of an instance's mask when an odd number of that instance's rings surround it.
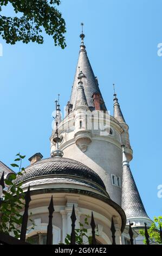
<svg viewBox="0 0 162 256">
<path fill-rule="evenodd" d="M 84 223 L 82 224 L 81 222 L 79 222 L 80 224 L 80 228 L 75 229 L 75 243 L 76 245 L 84 245 L 84 237 L 87 237 L 87 242 L 90 245 L 92 243 L 92 236 L 88 236 L 87 234 L 87 228 L 86 225 L 88 226 L 88 218 L 90 217 L 89 215 L 85 215 L 85 220 Z M 70 245 L 70 235 L 67 234 L 66 239 L 64 240 L 66 245 Z M 86 242 L 85 242 L 86 243 Z"/>
</svg>

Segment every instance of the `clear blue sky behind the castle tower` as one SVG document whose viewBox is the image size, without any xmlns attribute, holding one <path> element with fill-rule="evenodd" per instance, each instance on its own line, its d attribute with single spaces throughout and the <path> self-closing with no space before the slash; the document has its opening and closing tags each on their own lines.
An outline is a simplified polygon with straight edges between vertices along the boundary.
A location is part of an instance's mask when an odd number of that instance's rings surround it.
<svg viewBox="0 0 162 256">
<path fill-rule="evenodd" d="M 85 45 L 106 106 L 113 113 L 113 87 L 129 125 L 133 149 L 131 169 L 148 215 L 162 215 L 157 197 L 161 179 L 160 0 L 62 0 L 67 47 L 21 42 L 3 45 L 0 57 L 0 160 L 10 165 L 20 151 L 28 158 L 50 156 L 51 113 L 60 93 L 61 107 L 69 100 L 79 53 L 83 22 Z M 5 11 L 9 14 L 10 8 Z"/>
</svg>

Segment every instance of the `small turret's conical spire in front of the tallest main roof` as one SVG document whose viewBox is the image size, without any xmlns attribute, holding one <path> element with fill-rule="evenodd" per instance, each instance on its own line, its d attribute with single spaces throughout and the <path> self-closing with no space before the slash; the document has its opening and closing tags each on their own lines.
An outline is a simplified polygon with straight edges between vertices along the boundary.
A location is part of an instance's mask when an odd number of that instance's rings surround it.
<svg viewBox="0 0 162 256">
<path fill-rule="evenodd" d="M 77 87 L 77 96 L 76 96 L 76 102 L 75 102 L 75 109 L 81 106 L 88 107 L 88 103 L 86 100 L 85 90 L 83 88 L 83 82 L 82 78 L 86 78 L 86 76 L 83 74 L 82 71 L 79 72 L 79 76 L 77 77 L 79 79 L 78 87 Z"/>
</svg>

